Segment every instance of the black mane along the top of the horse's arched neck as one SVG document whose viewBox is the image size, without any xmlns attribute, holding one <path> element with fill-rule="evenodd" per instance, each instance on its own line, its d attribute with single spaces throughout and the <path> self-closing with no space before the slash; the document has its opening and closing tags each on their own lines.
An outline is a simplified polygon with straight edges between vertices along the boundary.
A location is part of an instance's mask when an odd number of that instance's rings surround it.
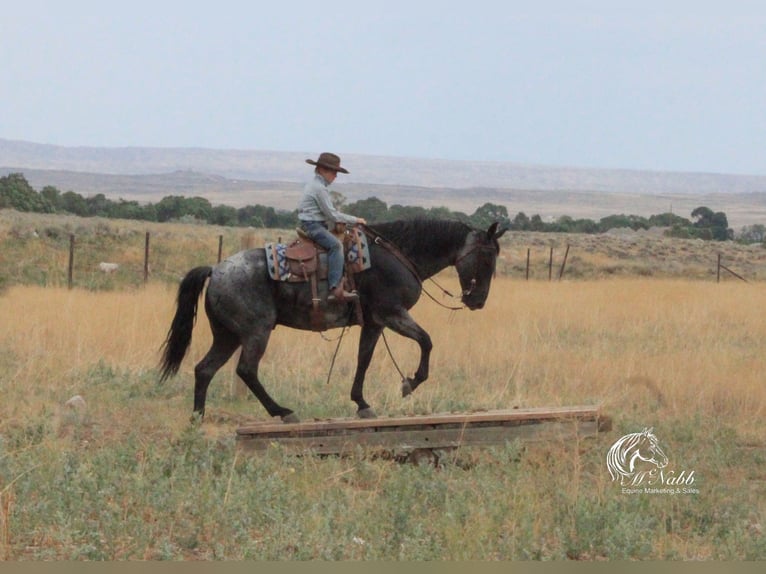
<svg viewBox="0 0 766 574">
<path fill-rule="evenodd" d="M 449 219 L 404 219 L 369 227 L 408 255 L 415 252 L 437 255 L 459 249 L 471 232 L 465 223 Z"/>
</svg>

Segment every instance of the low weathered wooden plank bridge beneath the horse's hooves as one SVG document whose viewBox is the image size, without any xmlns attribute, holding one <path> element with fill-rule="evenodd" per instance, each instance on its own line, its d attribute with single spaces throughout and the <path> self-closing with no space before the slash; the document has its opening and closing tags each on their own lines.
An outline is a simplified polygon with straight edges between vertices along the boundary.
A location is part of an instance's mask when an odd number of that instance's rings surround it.
<svg viewBox="0 0 766 574">
<path fill-rule="evenodd" d="M 592 436 L 597 407 L 561 407 L 446 413 L 384 419 L 330 419 L 303 423 L 256 423 L 237 429 L 242 446 L 289 452 L 343 454 L 357 447 L 414 451 L 487 446 L 506 441 Z"/>
</svg>

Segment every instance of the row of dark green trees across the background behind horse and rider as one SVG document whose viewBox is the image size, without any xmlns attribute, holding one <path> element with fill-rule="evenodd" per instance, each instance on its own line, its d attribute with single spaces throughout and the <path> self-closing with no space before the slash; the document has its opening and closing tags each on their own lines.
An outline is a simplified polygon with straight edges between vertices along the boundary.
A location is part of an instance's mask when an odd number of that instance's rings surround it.
<svg viewBox="0 0 766 574">
<path fill-rule="evenodd" d="M 665 227 L 668 229 L 667 234 L 673 237 L 717 241 L 734 239 L 734 231 L 729 228 L 726 214 L 720 211 L 714 212 L 705 206 L 694 209 L 691 219 L 673 213 L 661 213 L 650 217 L 610 215 L 598 221 L 575 219 L 563 215 L 554 221 L 544 221 L 540 215 L 530 217 L 524 212 L 517 213 L 511 219 L 505 206 L 493 203 L 485 203 L 468 215 L 446 207 L 425 208 L 398 204 L 389 206 L 377 197 L 347 203 L 342 194 L 333 191 L 331 195 L 336 207 L 364 217 L 370 223 L 432 217 L 463 221 L 476 228 L 486 228 L 492 222 L 500 221 L 501 225 L 515 231 L 591 234 L 604 233 L 615 228 L 630 228 L 637 231 L 650 227 Z M 74 191 L 62 193 L 50 185 L 38 192 L 21 173 L 11 173 L 0 177 L 0 208 L 37 213 L 67 213 L 81 217 L 98 216 L 156 222 L 204 222 L 230 227 L 288 229 L 298 224 L 295 210 L 280 210 L 259 204 L 240 208 L 227 205 L 213 206 L 203 197 L 169 195 L 157 203 L 141 204 L 138 201 L 127 201 L 122 198 L 113 201 L 102 193 L 89 197 L 83 197 Z M 746 226 L 738 239 L 747 243 L 763 243 L 766 239 L 766 227 Z"/>
</svg>

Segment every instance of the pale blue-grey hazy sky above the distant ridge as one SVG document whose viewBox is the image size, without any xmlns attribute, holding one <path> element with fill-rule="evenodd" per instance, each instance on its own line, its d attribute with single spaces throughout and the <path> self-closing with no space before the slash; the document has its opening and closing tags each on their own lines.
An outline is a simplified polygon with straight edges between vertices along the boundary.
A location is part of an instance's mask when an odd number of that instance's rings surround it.
<svg viewBox="0 0 766 574">
<path fill-rule="evenodd" d="M 763 0 L 0 12 L 4 139 L 766 175 Z"/>
</svg>

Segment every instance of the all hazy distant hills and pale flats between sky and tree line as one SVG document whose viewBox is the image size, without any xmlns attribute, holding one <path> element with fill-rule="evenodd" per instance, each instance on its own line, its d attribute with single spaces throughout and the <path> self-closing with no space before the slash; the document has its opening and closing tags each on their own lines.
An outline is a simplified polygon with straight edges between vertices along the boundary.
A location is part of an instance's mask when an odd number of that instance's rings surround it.
<svg viewBox="0 0 766 574">
<path fill-rule="evenodd" d="M 319 150 L 322 151 L 322 150 Z M 766 176 L 655 172 L 366 156 L 338 151 L 351 173 L 334 187 L 349 201 L 443 205 L 473 212 L 485 202 L 524 211 L 599 219 L 615 213 L 689 216 L 706 205 L 732 226 L 766 223 Z M 36 189 L 157 201 L 199 195 L 213 204 L 260 203 L 292 209 L 304 163 L 314 152 L 202 148 L 63 147 L 0 139 L 0 175 L 21 172 Z"/>
</svg>

